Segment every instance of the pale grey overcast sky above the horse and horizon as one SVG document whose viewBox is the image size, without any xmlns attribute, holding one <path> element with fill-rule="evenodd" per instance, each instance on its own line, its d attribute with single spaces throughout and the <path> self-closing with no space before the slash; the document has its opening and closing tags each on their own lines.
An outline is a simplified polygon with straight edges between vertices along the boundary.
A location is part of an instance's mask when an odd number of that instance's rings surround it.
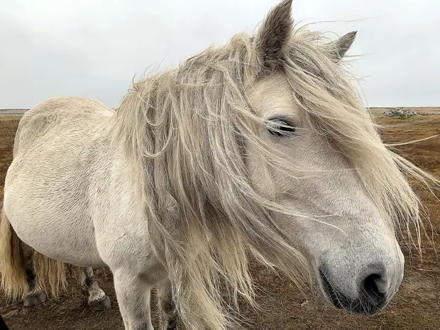
<svg viewBox="0 0 440 330">
<path fill-rule="evenodd" d="M 118 106 L 134 75 L 253 31 L 277 0 L 1 0 L 0 109 L 49 97 Z M 369 106 L 440 106 L 440 1 L 294 0 L 297 22 L 339 35 Z M 358 21 L 353 21 L 358 20 Z M 346 22 L 341 22 L 346 21 Z M 351 21 L 351 22 L 347 22 Z"/>
</svg>

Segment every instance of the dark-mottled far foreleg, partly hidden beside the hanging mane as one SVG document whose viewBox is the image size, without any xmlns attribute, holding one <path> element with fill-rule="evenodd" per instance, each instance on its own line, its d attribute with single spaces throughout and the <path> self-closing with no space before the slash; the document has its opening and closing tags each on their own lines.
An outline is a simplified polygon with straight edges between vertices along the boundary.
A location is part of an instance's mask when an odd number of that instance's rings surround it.
<svg viewBox="0 0 440 330">
<path fill-rule="evenodd" d="M 163 330 L 177 330 L 177 309 L 172 300 L 172 287 L 169 279 L 158 285 L 160 321 Z"/>
</svg>

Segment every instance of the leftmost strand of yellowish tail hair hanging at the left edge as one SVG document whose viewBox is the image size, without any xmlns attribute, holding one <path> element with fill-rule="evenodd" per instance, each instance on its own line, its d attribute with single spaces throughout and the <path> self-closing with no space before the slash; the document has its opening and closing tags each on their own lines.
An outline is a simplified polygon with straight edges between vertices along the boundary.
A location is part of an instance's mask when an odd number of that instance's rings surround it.
<svg viewBox="0 0 440 330">
<path fill-rule="evenodd" d="M 1 287 L 9 299 L 22 297 L 28 290 L 20 238 L 9 223 L 4 209 L 0 214 L 0 275 Z"/>
</svg>

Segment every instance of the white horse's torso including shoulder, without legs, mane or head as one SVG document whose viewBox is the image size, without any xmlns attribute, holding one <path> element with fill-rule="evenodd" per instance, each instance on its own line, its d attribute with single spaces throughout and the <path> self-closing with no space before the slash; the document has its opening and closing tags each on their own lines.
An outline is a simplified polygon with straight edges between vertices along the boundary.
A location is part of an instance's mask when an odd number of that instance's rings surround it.
<svg viewBox="0 0 440 330">
<path fill-rule="evenodd" d="M 89 278 L 90 268 L 108 265 L 116 283 L 142 277 L 153 287 L 166 273 L 149 244 L 133 163 L 122 144 L 110 142 L 113 116 L 99 101 L 72 97 L 28 111 L 6 175 L 4 211 L 38 253 L 89 268 Z"/>
</svg>

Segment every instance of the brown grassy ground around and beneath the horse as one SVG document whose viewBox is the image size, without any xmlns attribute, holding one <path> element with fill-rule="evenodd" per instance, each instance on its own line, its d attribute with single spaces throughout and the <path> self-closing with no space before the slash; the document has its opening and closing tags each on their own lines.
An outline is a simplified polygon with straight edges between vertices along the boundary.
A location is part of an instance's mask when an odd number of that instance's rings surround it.
<svg viewBox="0 0 440 330">
<path fill-rule="evenodd" d="M 383 110 L 372 109 L 379 117 Z M 437 109 L 438 110 L 438 109 Z M 383 124 L 383 136 L 388 143 L 417 140 L 440 133 L 440 116 L 428 114 L 402 120 L 379 118 Z M 18 120 L 12 117 L 0 119 L 0 198 L 3 197 L 4 176 L 11 162 L 13 137 Z M 440 177 L 440 137 L 412 145 L 397 147 L 402 155 L 425 170 Z M 417 191 L 429 211 L 434 233 L 434 245 L 440 246 L 440 202 L 427 189 Z M 430 227 L 428 226 L 430 229 Z M 431 233 L 431 231 L 430 231 Z M 405 278 L 400 291 L 390 305 L 373 317 L 355 317 L 330 307 L 317 294 L 304 295 L 285 277 L 275 275 L 261 265 L 253 263 L 251 273 L 260 288 L 258 303 L 260 311 L 246 305 L 241 316 L 247 322 L 245 329 L 256 330 L 438 330 L 440 329 L 440 263 L 433 245 L 426 239 L 422 243 L 422 259 L 416 251 L 405 253 Z M 0 292 L 0 314 L 11 330 L 33 329 L 123 329 L 111 272 L 96 270 L 102 289 L 109 295 L 113 305 L 107 312 L 92 312 L 87 307 L 78 285 L 72 281 L 67 292 L 59 299 L 49 299 L 43 306 L 24 311 L 20 303 L 7 304 Z M 153 297 L 155 299 L 155 297 Z M 153 310 L 153 324 L 158 326 L 157 309 Z M 158 328 L 156 328 L 158 329 Z M 182 328 L 180 328 L 182 329 Z"/>
</svg>

